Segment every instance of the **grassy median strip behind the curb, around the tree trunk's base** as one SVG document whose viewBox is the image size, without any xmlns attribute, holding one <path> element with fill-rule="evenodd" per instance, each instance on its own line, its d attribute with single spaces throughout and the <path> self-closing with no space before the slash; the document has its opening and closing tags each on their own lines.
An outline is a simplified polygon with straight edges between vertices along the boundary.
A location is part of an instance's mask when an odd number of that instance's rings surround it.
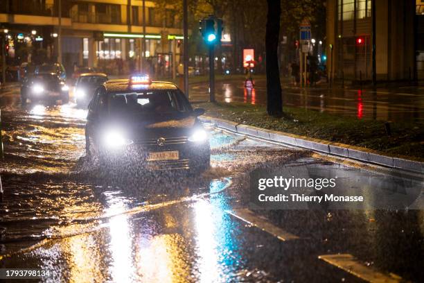
<svg viewBox="0 0 424 283">
<path fill-rule="evenodd" d="M 282 117 L 270 117 L 265 106 L 245 103 L 195 103 L 206 115 L 268 130 L 360 146 L 385 155 L 424 161 L 424 123 L 391 123 L 285 107 Z"/>
</svg>

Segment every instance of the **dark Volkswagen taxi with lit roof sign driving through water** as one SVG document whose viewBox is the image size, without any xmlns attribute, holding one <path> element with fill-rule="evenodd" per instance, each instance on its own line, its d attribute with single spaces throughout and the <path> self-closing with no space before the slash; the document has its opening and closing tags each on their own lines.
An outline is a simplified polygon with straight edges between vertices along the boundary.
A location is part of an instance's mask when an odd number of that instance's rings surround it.
<svg viewBox="0 0 424 283">
<path fill-rule="evenodd" d="M 106 169 L 209 168 L 208 135 L 173 83 L 148 76 L 109 80 L 94 93 L 85 128 L 87 156 Z"/>
</svg>

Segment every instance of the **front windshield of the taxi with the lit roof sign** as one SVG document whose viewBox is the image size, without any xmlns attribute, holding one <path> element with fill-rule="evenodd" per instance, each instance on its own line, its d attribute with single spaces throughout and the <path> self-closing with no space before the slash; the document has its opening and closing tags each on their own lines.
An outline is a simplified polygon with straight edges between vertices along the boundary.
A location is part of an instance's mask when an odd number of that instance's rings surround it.
<svg viewBox="0 0 424 283">
<path fill-rule="evenodd" d="M 191 110 L 184 94 L 178 90 L 148 90 L 109 97 L 111 114 L 178 114 Z"/>
</svg>

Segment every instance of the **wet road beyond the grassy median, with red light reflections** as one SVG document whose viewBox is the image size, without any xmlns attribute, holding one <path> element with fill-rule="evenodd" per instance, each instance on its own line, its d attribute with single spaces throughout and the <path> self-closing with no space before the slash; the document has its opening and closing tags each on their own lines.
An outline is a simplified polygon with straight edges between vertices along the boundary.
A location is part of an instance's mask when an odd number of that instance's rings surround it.
<svg viewBox="0 0 424 283">
<path fill-rule="evenodd" d="M 284 105 L 382 121 L 423 121 L 424 87 L 391 87 L 375 90 L 328 89 L 326 87 L 293 87 L 282 80 Z M 209 84 L 193 85 L 192 100 L 209 100 Z M 239 80 L 219 81 L 215 84 L 217 101 L 242 102 L 265 105 L 266 80 L 256 78 L 253 89 L 246 88 Z"/>
</svg>

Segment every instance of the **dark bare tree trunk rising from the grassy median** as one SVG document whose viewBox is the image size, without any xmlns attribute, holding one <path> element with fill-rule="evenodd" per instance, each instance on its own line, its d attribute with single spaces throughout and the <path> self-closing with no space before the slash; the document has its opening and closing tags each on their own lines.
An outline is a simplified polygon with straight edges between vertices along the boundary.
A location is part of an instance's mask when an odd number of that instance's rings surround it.
<svg viewBox="0 0 424 283">
<path fill-rule="evenodd" d="M 279 56 L 277 53 L 280 34 L 280 0 L 267 0 L 267 31 L 265 33 L 266 73 L 267 73 L 267 112 L 279 116 L 283 113 Z"/>
</svg>

